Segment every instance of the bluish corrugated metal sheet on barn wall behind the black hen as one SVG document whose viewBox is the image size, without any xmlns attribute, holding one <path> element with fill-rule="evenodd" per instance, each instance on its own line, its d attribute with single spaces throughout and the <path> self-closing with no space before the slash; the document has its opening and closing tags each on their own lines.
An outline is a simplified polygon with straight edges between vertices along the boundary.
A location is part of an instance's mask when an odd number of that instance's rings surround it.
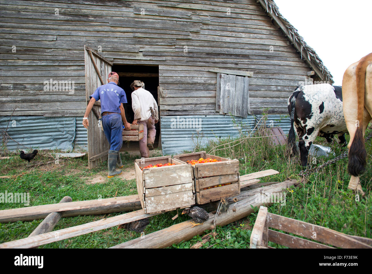
<svg viewBox="0 0 372 274">
<path fill-rule="evenodd" d="M 6 129 L 10 117 L 0 117 L 0 127 Z M 72 149 L 75 138 L 75 117 L 32 117 L 11 118 L 8 134 L 14 140 L 32 149 Z M 25 149 L 9 140 L 9 150 Z"/>
</svg>

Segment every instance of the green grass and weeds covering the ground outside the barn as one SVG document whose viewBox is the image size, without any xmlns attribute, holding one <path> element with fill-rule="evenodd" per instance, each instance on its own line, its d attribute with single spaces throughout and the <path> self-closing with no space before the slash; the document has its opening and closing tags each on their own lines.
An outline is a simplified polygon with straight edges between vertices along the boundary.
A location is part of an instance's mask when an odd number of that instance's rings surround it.
<svg viewBox="0 0 372 274">
<path fill-rule="evenodd" d="M 369 131 L 368 131 L 369 133 Z M 209 142 L 203 150 L 209 152 L 213 147 L 231 142 L 233 139 L 224 139 Z M 232 144 L 237 144 L 235 142 Z M 317 138 L 317 144 L 331 146 L 336 155 L 346 151 L 337 143 L 328 144 L 324 138 Z M 231 146 L 231 144 L 230 144 Z M 356 201 L 355 194 L 347 189 L 349 174 L 347 173 L 347 159 L 325 167 L 319 173 L 308 177 L 309 182 L 303 188 L 287 190 L 286 204 L 273 204 L 269 212 L 282 216 L 302 220 L 312 224 L 329 227 L 346 234 L 372 238 L 372 199 L 371 199 L 371 141 L 366 143 L 368 153 L 367 171 L 360 177 L 365 198 Z M 212 153 L 217 156 L 240 160 L 240 174 L 247 174 L 264 169 L 275 169 L 278 175 L 262 178 L 262 182 L 285 181 L 286 178 L 299 178 L 301 171 L 299 157 L 289 159 L 285 154 L 285 146 L 273 146 L 267 138 L 246 139 L 237 146 L 224 147 Z M 320 165 L 332 159 L 321 157 L 317 159 Z M 37 161 L 51 160 L 48 153 L 41 152 Z M 124 168 L 129 168 L 135 157 L 125 154 L 122 156 Z M 68 195 L 73 201 L 92 200 L 97 198 L 110 198 L 137 194 L 135 179 L 126 181 L 121 178 L 107 179 L 100 184 L 86 184 L 92 176 L 106 175 L 107 162 L 102 166 L 89 170 L 87 156 L 74 159 L 60 159 L 60 166 L 40 166 L 27 168 L 27 162 L 18 156 L 7 160 L 0 160 L 0 176 L 19 175 L 16 178 L 0 179 L 0 192 L 30 192 L 30 205 L 58 203 L 62 197 Z M 291 192 L 293 190 L 293 192 Z M 117 192 L 117 193 L 116 193 Z M 22 204 L 0 203 L 0 209 L 22 207 Z M 92 222 L 102 218 L 116 216 L 122 213 L 112 213 L 98 216 L 78 216 L 62 218 L 54 230 Z M 187 216 L 180 216 L 175 220 L 171 218 L 177 211 L 171 211 L 150 218 L 150 224 L 145 234 L 166 228 L 172 224 L 188 220 Z M 224 227 L 217 227 L 215 238 L 206 242 L 204 248 L 248 248 L 251 229 L 257 214 L 233 222 Z M 0 224 L 0 242 L 27 237 L 42 220 L 32 222 L 15 222 Z M 209 233 L 208 231 L 207 233 Z M 98 232 L 77 236 L 71 239 L 50 243 L 39 248 L 107 248 L 140 236 L 137 232 L 127 232 L 112 227 Z M 203 235 L 193 237 L 188 241 L 174 244 L 173 248 L 190 248 L 201 240 Z M 279 247 L 273 243 L 271 246 Z"/>
</svg>

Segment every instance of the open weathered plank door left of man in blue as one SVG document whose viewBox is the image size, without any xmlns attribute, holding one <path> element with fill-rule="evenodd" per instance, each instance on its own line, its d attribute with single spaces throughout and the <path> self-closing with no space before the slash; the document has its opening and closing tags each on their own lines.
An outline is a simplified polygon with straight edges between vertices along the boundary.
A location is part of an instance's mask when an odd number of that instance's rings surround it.
<svg viewBox="0 0 372 274">
<path fill-rule="evenodd" d="M 107 78 L 111 72 L 112 63 L 105 57 L 94 51 L 92 48 L 84 46 L 85 51 L 85 92 L 88 105 L 89 96 L 94 90 L 107 83 Z M 101 130 L 101 103 L 95 102 L 89 114 L 88 127 L 88 166 L 89 169 L 95 168 L 100 163 L 105 162 L 108 157 L 109 142 Z"/>
</svg>

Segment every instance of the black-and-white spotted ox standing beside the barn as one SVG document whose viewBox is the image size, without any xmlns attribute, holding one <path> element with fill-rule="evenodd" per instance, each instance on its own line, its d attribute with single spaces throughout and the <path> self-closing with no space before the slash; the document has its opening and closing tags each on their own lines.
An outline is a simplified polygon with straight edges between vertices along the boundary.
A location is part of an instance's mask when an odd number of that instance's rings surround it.
<svg viewBox="0 0 372 274">
<path fill-rule="evenodd" d="M 295 155 L 296 127 L 302 166 L 307 166 L 309 149 L 317 136 L 326 138 L 330 143 L 337 135 L 339 144 L 347 145 L 347 127 L 342 106 L 341 87 L 329 84 L 298 86 L 288 98 L 291 117 L 288 145 L 291 154 Z"/>
</svg>

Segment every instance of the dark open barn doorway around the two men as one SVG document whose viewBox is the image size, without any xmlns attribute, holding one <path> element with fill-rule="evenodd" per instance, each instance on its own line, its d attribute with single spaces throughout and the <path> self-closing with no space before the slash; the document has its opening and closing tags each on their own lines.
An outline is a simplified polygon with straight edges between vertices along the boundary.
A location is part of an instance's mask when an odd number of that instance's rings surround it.
<svg viewBox="0 0 372 274">
<path fill-rule="evenodd" d="M 145 89 L 154 96 L 155 101 L 158 103 L 159 86 L 159 66 L 140 66 L 140 65 L 115 65 L 112 66 L 112 71 L 119 75 L 119 86 L 124 89 L 128 103 L 124 104 L 126 120 L 129 123 L 133 122 L 134 112 L 132 110 L 132 89 L 131 83 L 134 80 L 141 80 L 145 83 Z M 159 110 L 159 108 L 158 108 Z M 155 124 L 156 137 L 154 141 L 154 148 L 159 146 L 160 138 L 160 115 L 159 122 Z M 145 137 L 144 137 L 145 138 Z M 139 152 L 138 142 L 123 143 L 121 151 Z"/>
</svg>

